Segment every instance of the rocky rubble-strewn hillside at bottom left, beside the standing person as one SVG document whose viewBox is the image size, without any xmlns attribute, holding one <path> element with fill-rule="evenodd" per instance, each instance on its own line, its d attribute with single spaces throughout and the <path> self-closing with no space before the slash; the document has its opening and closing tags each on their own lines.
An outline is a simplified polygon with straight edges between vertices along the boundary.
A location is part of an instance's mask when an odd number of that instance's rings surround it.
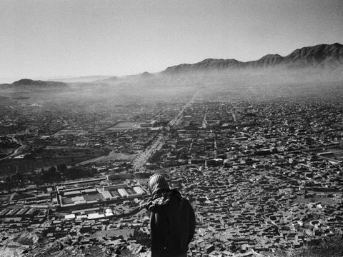
<svg viewBox="0 0 343 257">
<path fill-rule="evenodd" d="M 134 239 L 122 237 L 111 238 L 80 238 L 73 240 L 69 236 L 59 238 L 49 243 L 42 236 L 25 231 L 3 238 L 0 248 L 1 257 L 9 256 L 150 256 L 149 248 L 137 243 Z"/>
</svg>

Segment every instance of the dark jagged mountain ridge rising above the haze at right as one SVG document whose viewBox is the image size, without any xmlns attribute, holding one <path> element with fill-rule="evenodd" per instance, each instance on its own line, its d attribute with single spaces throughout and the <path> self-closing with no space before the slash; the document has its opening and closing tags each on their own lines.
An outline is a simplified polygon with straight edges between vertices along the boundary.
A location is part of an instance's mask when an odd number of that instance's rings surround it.
<svg viewBox="0 0 343 257">
<path fill-rule="evenodd" d="M 267 54 L 256 61 L 237 61 L 236 59 L 204 59 L 196 64 L 170 66 L 161 74 L 182 74 L 189 72 L 224 71 L 228 69 L 265 68 L 329 68 L 343 65 L 343 46 L 339 43 L 307 46 L 292 51 L 287 56 Z"/>
</svg>

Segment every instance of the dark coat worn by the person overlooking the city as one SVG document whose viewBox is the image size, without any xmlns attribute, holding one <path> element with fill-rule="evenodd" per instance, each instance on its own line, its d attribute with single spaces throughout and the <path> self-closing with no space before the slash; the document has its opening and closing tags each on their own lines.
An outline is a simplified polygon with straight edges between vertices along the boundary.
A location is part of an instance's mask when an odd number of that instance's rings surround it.
<svg viewBox="0 0 343 257">
<path fill-rule="evenodd" d="M 151 257 L 186 255 L 195 229 L 194 211 L 179 193 L 151 209 Z"/>
</svg>

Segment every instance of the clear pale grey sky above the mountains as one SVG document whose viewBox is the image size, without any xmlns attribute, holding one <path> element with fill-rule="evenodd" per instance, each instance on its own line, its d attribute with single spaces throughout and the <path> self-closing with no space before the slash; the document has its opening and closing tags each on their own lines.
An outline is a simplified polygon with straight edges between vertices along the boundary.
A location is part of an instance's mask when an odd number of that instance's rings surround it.
<svg viewBox="0 0 343 257">
<path fill-rule="evenodd" d="M 334 42 L 342 0 L 0 1 L 0 77 L 137 74 Z"/>
</svg>

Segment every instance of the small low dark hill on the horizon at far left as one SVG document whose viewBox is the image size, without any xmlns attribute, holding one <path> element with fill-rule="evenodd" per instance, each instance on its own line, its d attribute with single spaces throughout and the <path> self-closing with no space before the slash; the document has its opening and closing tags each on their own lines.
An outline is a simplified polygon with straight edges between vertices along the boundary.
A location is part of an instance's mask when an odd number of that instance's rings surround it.
<svg viewBox="0 0 343 257">
<path fill-rule="evenodd" d="M 12 84 L 0 84 L 0 89 L 15 89 L 15 90 L 58 90 L 68 89 L 69 86 L 64 82 L 59 81 L 34 81 L 32 79 L 21 79 L 14 81 Z"/>
</svg>

